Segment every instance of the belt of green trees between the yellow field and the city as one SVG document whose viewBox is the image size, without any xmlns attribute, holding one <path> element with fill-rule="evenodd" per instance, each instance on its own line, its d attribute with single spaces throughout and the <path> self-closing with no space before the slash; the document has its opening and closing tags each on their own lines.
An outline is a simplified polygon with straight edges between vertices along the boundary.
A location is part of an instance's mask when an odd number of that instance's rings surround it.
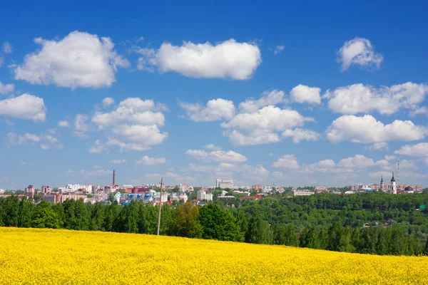
<svg viewBox="0 0 428 285">
<path fill-rule="evenodd" d="M 162 206 L 163 235 L 363 254 L 428 255 L 428 194 L 272 195 Z M 421 207 L 422 206 L 422 207 Z M 422 210 L 421 210 L 422 209 Z M 158 206 L 0 198 L 1 227 L 156 234 Z"/>
</svg>

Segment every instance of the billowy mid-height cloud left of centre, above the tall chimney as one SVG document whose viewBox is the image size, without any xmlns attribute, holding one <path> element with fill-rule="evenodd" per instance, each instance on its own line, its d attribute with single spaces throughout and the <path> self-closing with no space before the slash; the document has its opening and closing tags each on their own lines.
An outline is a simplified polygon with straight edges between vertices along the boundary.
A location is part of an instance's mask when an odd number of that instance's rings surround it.
<svg viewBox="0 0 428 285">
<path fill-rule="evenodd" d="M 96 112 L 91 122 L 98 130 L 106 132 L 107 145 L 118 146 L 121 150 L 148 150 L 168 137 L 168 133 L 160 130 L 165 124 L 160 110 L 163 105 L 153 100 L 127 98 L 111 112 Z"/>
</svg>

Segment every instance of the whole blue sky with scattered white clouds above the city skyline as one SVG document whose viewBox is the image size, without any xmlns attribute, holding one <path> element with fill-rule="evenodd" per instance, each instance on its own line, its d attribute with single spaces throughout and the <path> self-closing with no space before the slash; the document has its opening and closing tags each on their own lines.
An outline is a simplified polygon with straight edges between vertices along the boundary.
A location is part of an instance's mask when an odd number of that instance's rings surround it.
<svg viewBox="0 0 428 285">
<path fill-rule="evenodd" d="M 0 188 L 427 185 L 424 1 L 2 11 Z"/>
</svg>

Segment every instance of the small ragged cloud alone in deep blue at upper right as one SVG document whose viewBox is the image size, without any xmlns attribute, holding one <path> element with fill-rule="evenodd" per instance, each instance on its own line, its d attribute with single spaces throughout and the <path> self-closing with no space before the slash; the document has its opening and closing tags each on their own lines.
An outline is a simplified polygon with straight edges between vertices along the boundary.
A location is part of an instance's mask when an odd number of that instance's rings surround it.
<svg viewBox="0 0 428 285">
<path fill-rule="evenodd" d="M 367 38 L 354 38 L 346 41 L 340 48 L 337 61 L 342 63 L 342 71 L 347 70 L 352 64 L 362 67 L 380 67 L 383 56 L 375 53 L 372 43 Z"/>
</svg>

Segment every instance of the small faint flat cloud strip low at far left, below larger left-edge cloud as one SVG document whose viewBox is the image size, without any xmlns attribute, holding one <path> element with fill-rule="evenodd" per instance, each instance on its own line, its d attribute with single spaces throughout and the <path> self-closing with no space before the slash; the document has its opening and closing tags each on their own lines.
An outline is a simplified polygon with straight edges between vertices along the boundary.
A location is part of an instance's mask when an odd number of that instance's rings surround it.
<svg viewBox="0 0 428 285">
<path fill-rule="evenodd" d="M 58 138 L 56 138 L 54 135 L 49 135 L 46 133 L 43 133 L 41 135 L 36 135 L 32 133 L 26 133 L 25 135 L 8 133 L 7 138 L 7 144 L 9 146 L 26 145 L 28 142 L 31 142 L 32 144 L 39 144 L 42 150 L 49 150 L 52 147 L 56 147 L 58 149 L 63 148 L 63 145 L 61 145 Z"/>
</svg>

